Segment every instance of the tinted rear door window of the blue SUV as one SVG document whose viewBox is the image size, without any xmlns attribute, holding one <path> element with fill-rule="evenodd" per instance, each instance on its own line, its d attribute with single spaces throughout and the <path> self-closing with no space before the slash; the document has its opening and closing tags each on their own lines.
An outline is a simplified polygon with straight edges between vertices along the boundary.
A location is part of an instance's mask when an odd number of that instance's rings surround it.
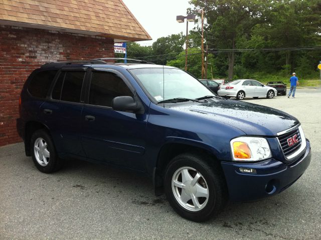
<svg viewBox="0 0 321 240">
<path fill-rule="evenodd" d="M 61 72 L 52 91 L 52 98 L 80 102 L 84 77 L 85 72 Z"/>
</svg>

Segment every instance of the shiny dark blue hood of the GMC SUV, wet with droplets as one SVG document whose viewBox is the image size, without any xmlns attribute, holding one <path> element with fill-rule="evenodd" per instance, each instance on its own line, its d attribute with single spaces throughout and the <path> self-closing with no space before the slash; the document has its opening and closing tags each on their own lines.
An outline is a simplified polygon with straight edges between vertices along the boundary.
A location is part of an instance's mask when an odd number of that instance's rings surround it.
<svg viewBox="0 0 321 240">
<path fill-rule="evenodd" d="M 253 103 L 217 99 L 207 103 L 172 105 L 172 109 L 233 126 L 247 135 L 276 136 L 278 132 L 299 124 L 299 121 L 283 112 Z"/>
</svg>

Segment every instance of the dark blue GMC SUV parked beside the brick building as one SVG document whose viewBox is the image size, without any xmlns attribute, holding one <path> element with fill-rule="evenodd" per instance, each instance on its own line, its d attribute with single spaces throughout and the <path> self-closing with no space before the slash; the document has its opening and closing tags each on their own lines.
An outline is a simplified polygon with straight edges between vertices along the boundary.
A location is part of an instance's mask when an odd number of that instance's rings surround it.
<svg viewBox="0 0 321 240">
<path fill-rule="evenodd" d="M 45 64 L 24 84 L 17 129 L 41 172 L 68 158 L 132 169 L 204 221 L 227 201 L 282 192 L 308 167 L 295 117 L 216 96 L 175 67 L 106 60 Z"/>
</svg>

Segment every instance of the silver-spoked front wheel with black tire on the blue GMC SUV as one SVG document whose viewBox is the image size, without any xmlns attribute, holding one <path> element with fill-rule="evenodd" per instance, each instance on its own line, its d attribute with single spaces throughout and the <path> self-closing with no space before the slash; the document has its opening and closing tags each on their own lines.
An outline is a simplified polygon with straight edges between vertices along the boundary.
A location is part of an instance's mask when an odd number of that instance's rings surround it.
<svg viewBox="0 0 321 240">
<path fill-rule="evenodd" d="M 227 200 L 227 188 L 219 165 L 213 168 L 205 158 L 181 154 L 165 171 L 165 193 L 171 206 L 182 217 L 197 222 L 218 213 Z"/>
</svg>

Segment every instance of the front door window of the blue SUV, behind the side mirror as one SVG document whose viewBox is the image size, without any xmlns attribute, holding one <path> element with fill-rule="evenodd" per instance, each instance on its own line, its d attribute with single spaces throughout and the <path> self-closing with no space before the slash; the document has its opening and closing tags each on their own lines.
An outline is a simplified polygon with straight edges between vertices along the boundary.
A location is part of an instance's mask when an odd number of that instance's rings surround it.
<svg viewBox="0 0 321 240">
<path fill-rule="evenodd" d="M 111 100 L 117 96 L 133 96 L 123 80 L 111 72 L 93 72 L 89 104 L 111 106 Z"/>
</svg>

